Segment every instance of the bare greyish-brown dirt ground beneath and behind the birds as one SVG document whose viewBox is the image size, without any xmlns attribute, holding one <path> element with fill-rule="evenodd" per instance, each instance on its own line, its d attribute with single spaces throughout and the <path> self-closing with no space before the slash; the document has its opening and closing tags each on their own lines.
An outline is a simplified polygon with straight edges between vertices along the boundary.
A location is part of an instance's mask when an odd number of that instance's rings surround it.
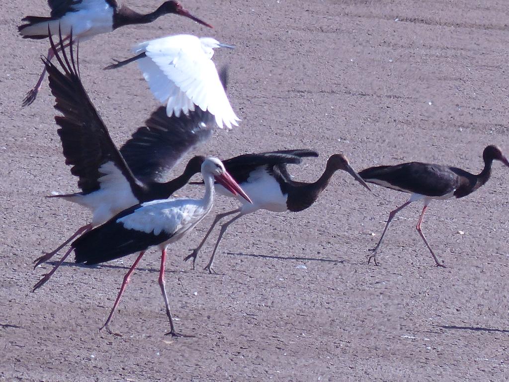
<svg viewBox="0 0 509 382">
<path fill-rule="evenodd" d="M 125 3 L 138 11 L 159 5 Z M 102 68 L 130 57 L 136 42 L 192 33 L 237 47 L 218 49 L 214 61 L 230 63 L 230 99 L 242 124 L 217 131 L 201 153 L 317 149 L 319 158 L 290 168 L 306 181 L 336 152 L 359 170 L 422 160 L 475 173 L 486 145 L 509 154 L 505 1 L 183 4 L 215 29 L 165 16 L 80 47 L 83 84 L 118 144 L 157 102 L 136 65 Z M 48 12 L 44 0 L 17 1 L 6 2 L 1 15 L 1 381 L 509 378 L 509 169 L 499 162 L 473 195 L 431 204 L 423 229 L 445 269 L 434 266 L 414 229 L 418 203 L 394 221 L 381 266 L 366 265 L 389 211 L 407 196 L 376 186 L 369 194 L 338 173 L 312 208 L 260 211 L 232 226 L 218 253 L 219 275 L 203 270 L 213 240 L 195 271 L 182 261 L 212 214 L 169 248 L 177 329 L 195 337 L 164 336 L 156 250 L 134 273 L 111 324 L 121 336 L 99 328 L 134 256 L 98 267 L 70 259 L 32 293 L 53 264 L 33 270 L 32 261 L 90 219 L 86 210 L 44 198 L 77 189 L 47 82 L 32 106 L 20 106 L 48 44 L 21 39 L 16 26 L 25 15 Z M 218 198 L 214 211 L 232 208 Z"/>
</svg>

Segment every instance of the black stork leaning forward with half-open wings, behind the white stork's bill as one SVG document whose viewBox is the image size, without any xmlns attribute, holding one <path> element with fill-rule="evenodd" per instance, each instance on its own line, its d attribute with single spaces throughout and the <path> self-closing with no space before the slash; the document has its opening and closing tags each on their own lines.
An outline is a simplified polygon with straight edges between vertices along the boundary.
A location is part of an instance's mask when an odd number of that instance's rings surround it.
<svg viewBox="0 0 509 382">
<path fill-rule="evenodd" d="M 203 238 L 200 245 L 192 251 L 190 255 L 184 258 L 185 261 L 192 258 L 193 268 L 198 252 L 209 237 L 215 225 L 228 215 L 237 214 L 233 219 L 221 226 L 212 256 L 205 267 L 210 273 L 214 256 L 219 246 L 219 242 L 233 222 L 241 216 L 255 212 L 259 209 L 265 209 L 273 212 L 302 211 L 315 203 L 321 192 L 329 184 L 332 175 L 338 170 L 348 172 L 360 184 L 370 189 L 362 178 L 352 169 L 347 157 L 343 154 L 334 154 L 327 160 L 325 171 L 322 176 L 313 183 L 298 182 L 292 179 L 288 173 L 287 165 L 289 163 L 298 164 L 302 157 L 318 156 L 313 150 L 284 150 L 272 151 L 259 154 L 244 154 L 224 161 L 224 166 L 228 169 L 233 178 L 239 183 L 242 189 L 249 195 L 252 203 L 239 201 L 242 206 L 229 212 L 217 214 L 212 226 Z M 232 196 L 223 187 L 217 185 L 217 192 L 220 195 Z"/>
</svg>

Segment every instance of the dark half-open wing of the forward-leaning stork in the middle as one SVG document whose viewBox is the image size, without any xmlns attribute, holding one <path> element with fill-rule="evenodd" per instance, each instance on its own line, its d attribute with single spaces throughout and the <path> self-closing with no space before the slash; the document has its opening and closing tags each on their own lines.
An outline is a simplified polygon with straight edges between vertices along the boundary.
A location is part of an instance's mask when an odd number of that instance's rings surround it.
<svg viewBox="0 0 509 382">
<path fill-rule="evenodd" d="M 274 166 L 277 166 L 279 169 L 284 168 L 284 171 L 286 171 L 286 165 L 298 165 L 302 162 L 302 157 L 306 156 L 318 156 L 318 153 L 313 150 L 269 151 L 235 156 L 223 160 L 223 164 L 234 179 L 241 183 L 246 181 L 249 175 L 259 167 L 272 169 Z"/>
</svg>

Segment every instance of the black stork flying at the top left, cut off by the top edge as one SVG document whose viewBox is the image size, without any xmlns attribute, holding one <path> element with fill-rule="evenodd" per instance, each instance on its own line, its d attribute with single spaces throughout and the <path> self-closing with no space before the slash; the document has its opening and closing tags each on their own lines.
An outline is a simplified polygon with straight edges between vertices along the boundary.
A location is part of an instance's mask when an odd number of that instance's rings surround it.
<svg viewBox="0 0 509 382">
<path fill-rule="evenodd" d="M 49 34 L 58 33 L 59 26 L 66 35 L 66 41 L 72 34 L 75 40 L 88 40 L 92 37 L 111 32 L 124 25 L 147 24 L 158 17 L 175 13 L 188 17 L 202 25 L 212 26 L 205 21 L 192 16 L 179 2 L 174 0 L 164 2 L 154 12 L 140 14 L 126 6 L 119 6 L 116 0 L 48 0 L 51 9 L 49 17 L 26 16 L 21 21 L 26 23 L 18 26 L 18 31 L 25 39 L 45 39 Z M 48 33 L 49 31 L 49 33 Z M 47 60 L 53 58 L 53 50 L 50 48 Z M 44 79 L 43 70 L 36 86 L 30 90 L 23 106 L 30 105 L 35 101 L 37 93 Z"/>
</svg>

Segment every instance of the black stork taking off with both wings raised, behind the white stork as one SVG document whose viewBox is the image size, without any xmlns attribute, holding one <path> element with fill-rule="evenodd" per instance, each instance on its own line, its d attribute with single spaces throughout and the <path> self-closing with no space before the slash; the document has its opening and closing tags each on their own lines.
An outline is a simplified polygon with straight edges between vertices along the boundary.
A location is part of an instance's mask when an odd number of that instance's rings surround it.
<svg viewBox="0 0 509 382">
<path fill-rule="evenodd" d="M 50 43 L 54 46 L 51 38 Z M 56 53 L 62 71 L 48 60 L 45 65 L 55 97 L 54 107 L 63 114 L 56 116 L 55 121 L 60 126 L 57 131 L 66 164 L 73 166 L 71 173 L 79 178 L 81 192 L 51 197 L 87 207 L 92 210 L 93 218 L 54 251 L 36 259 L 36 267 L 76 236 L 106 222 L 120 211 L 138 203 L 168 198 L 183 187 L 200 172 L 204 157 L 190 159 L 182 175 L 176 179 L 159 181 L 186 153 L 207 141 L 215 125 L 209 112 L 196 110 L 189 116 L 168 117 L 161 106 L 152 113 L 146 126 L 140 127 L 118 150 L 83 88 L 72 44 L 71 37 L 70 57 L 64 49 L 62 58 Z M 71 250 L 34 286 L 34 290 L 49 280 L 70 253 Z"/>
</svg>

